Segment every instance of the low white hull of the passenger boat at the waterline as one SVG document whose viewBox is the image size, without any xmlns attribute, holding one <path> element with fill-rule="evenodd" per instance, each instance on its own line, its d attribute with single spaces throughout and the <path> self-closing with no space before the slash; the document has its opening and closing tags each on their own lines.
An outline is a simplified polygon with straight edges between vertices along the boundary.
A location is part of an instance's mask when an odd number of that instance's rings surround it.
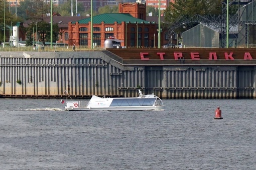
<svg viewBox="0 0 256 170">
<path fill-rule="evenodd" d="M 135 111 L 135 110 L 158 110 L 164 109 L 164 105 L 161 106 L 140 106 L 140 107 L 76 107 L 66 108 L 68 111 L 91 111 L 91 110 L 106 110 L 106 111 Z"/>
</svg>

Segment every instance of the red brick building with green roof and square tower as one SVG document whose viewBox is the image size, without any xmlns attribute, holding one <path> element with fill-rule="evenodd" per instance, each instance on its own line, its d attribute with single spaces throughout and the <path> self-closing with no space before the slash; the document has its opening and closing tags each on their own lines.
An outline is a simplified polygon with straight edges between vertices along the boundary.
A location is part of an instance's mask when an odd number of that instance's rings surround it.
<svg viewBox="0 0 256 170">
<path fill-rule="evenodd" d="M 121 40 L 121 46 L 158 46 L 158 23 L 146 20 L 146 5 L 120 3 L 119 13 L 93 16 L 94 46 L 104 47 L 105 39 L 113 36 Z M 69 22 L 69 45 L 91 46 L 91 18 Z M 161 44 L 163 44 L 161 34 Z"/>
</svg>

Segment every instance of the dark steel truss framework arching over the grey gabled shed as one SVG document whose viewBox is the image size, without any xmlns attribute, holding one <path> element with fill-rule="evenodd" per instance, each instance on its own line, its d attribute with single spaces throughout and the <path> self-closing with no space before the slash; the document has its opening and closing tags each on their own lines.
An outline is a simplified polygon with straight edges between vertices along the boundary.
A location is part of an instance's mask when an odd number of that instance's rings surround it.
<svg viewBox="0 0 256 170">
<path fill-rule="evenodd" d="M 171 35 L 177 29 L 184 27 L 184 25 L 188 25 L 191 23 L 202 23 L 220 33 L 220 47 L 226 47 L 226 30 L 227 30 L 227 7 L 234 7 L 236 9 L 236 14 L 228 15 L 228 30 L 229 35 L 232 34 L 232 40 L 229 41 L 228 46 L 233 46 L 232 44 L 240 44 L 240 46 L 248 47 L 249 43 L 255 43 L 254 39 L 249 39 L 250 34 L 254 31 L 254 27 L 256 25 L 256 20 L 242 20 L 242 16 L 246 13 L 247 15 L 253 15 L 253 10 L 246 11 L 246 7 L 241 8 L 241 6 L 245 6 L 250 2 L 254 2 L 256 0 L 229 0 L 227 6 L 227 0 L 222 1 L 222 14 L 221 15 L 194 15 L 192 17 L 188 17 L 186 15 L 181 15 L 178 17 L 173 23 L 170 24 L 168 29 L 168 34 Z M 252 4 L 252 9 L 255 8 L 256 2 Z M 250 33 L 251 31 L 251 33 Z M 255 30 L 256 31 L 256 30 Z M 239 38 L 238 38 L 239 35 Z M 169 42 L 172 41 L 172 36 L 169 36 Z M 234 42 L 235 41 L 235 42 Z"/>
</svg>

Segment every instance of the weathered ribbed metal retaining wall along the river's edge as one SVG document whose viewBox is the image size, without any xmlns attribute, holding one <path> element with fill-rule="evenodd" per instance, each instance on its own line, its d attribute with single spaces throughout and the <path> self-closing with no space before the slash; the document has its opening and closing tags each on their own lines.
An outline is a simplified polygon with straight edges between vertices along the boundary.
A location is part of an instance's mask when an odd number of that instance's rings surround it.
<svg viewBox="0 0 256 170">
<path fill-rule="evenodd" d="M 255 98 L 255 66 L 123 66 L 104 52 L 2 52 L 3 97 Z"/>
</svg>

